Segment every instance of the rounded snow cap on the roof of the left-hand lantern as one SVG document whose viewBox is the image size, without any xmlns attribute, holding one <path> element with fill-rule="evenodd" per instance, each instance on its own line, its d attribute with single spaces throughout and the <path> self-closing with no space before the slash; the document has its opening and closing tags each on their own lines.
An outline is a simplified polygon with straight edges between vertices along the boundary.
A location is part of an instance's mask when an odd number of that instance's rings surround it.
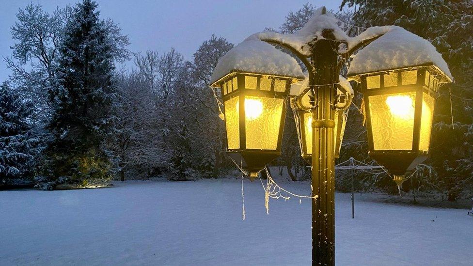
<svg viewBox="0 0 473 266">
<path fill-rule="evenodd" d="M 304 77 L 294 58 L 254 36 L 248 37 L 221 58 L 210 78 L 210 83 L 215 83 L 232 71 Z"/>
</svg>

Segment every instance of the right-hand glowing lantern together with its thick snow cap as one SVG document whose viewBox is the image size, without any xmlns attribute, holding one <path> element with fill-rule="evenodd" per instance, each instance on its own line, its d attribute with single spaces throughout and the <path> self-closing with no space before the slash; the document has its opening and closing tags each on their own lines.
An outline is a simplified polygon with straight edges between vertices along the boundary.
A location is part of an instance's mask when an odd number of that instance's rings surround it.
<svg viewBox="0 0 473 266">
<path fill-rule="evenodd" d="M 348 77 L 361 83 L 369 155 L 400 186 L 427 158 L 435 97 L 452 82 L 447 64 L 428 41 L 395 27 L 355 55 Z"/>
</svg>

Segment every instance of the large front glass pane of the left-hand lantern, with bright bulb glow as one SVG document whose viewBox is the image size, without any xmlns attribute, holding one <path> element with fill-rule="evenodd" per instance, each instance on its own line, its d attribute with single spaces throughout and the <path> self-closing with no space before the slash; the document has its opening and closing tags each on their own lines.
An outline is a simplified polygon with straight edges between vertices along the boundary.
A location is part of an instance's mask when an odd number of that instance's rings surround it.
<svg viewBox="0 0 473 266">
<path fill-rule="evenodd" d="M 246 148 L 276 150 L 284 100 L 245 96 Z"/>
</svg>

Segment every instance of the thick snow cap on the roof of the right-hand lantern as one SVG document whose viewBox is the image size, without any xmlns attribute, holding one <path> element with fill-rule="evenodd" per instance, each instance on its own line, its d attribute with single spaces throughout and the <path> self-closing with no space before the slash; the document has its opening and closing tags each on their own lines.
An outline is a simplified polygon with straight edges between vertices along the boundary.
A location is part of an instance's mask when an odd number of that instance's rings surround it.
<svg viewBox="0 0 473 266">
<path fill-rule="evenodd" d="M 397 26 L 372 27 L 363 35 L 373 35 L 378 31 L 387 32 L 361 49 L 353 56 L 348 76 L 378 72 L 390 69 L 401 69 L 433 63 L 450 79 L 452 74 L 441 54 L 426 39 Z M 377 33 L 374 33 L 377 35 Z M 360 35 L 362 35 L 360 34 Z M 357 36 L 353 39 L 361 39 Z"/>
</svg>

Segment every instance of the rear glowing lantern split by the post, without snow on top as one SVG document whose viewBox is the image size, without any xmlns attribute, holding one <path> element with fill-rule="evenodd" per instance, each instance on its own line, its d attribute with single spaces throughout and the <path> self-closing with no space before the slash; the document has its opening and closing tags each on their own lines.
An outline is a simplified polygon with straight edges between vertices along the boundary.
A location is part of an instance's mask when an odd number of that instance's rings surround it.
<svg viewBox="0 0 473 266">
<path fill-rule="evenodd" d="M 346 97 L 346 94 L 343 94 L 340 89 L 337 90 L 339 96 L 339 103 L 344 105 L 347 102 L 351 103 L 351 95 L 349 99 Z M 307 162 L 311 162 L 312 157 L 312 112 L 310 108 L 311 104 L 311 93 L 309 89 L 306 89 L 299 98 L 293 99 L 293 109 L 297 113 L 296 123 L 298 126 L 298 134 L 300 141 L 300 151 L 302 158 Z M 345 132 L 345 125 L 347 122 L 347 109 L 337 109 L 335 110 L 333 121 L 335 122 L 335 127 L 333 132 L 335 134 L 334 141 L 334 151 L 335 158 L 340 156 L 340 149 L 343 141 L 343 134 Z"/>
</svg>

